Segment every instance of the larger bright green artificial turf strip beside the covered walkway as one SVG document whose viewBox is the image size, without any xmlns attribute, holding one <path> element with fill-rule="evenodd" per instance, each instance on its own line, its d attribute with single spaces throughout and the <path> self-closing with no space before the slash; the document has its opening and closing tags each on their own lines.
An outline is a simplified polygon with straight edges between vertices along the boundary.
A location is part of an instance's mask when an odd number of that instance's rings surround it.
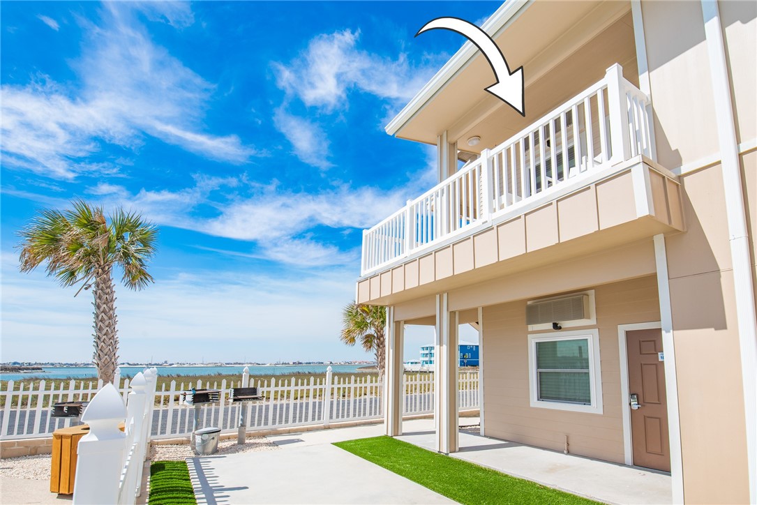
<svg viewBox="0 0 757 505">
<path fill-rule="evenodd" d="M 459 503 L 597 503 L 391 437 L 334 444 Z"/>
</svg>

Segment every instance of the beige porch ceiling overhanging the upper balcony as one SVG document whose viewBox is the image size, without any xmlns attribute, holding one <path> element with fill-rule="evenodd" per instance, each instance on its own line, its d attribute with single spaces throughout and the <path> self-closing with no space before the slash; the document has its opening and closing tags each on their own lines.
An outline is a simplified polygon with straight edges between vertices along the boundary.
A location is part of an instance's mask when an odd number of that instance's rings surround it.
<svg viewBox="0 0 757 505">
<path fill-rule="evenodd" d="M 627 67 L 626 78 L 635 83 L 630 10 L 628 2 L 531 3 L 494 37 L 511 70 L 524 66 L 526 117 L 484 91 L 494 83 L 494 74 L 477 52 L 402 123 L 397 137 L 435 144 L 447 130 L 450 142 L 459 141 L 459 148 L 480 152 L 586 88 L 613 63 Z M 474 135 L 481 136 L 481 143 L 471 148 L 465 141 Z"/>
</svg>

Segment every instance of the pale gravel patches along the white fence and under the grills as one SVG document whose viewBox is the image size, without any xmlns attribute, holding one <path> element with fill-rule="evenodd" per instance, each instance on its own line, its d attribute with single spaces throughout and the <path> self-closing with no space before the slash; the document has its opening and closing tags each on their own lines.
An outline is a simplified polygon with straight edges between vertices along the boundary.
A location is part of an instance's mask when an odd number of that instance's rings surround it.
<svg viewBox="0 0 757 505">
<path fill-rule="evenodd" d="M 258 452 L 261 450 L 278 450 L 279 447 L 265 437 L 247 439 L 247 444 L 237 445 L 236 440 L 224 440 L 218 444 L 216 454 L 237 454 Z M 189 444 L 183 445 L 154 445 L 150 450 L 151 461 L 182 461 L 194 457 Z M 14 457 L 0 460 L 0 477 L 9 479 L 33 479 L 46 481 L 50 479 L 50 454 L 38 456 Z"/>
</svg>

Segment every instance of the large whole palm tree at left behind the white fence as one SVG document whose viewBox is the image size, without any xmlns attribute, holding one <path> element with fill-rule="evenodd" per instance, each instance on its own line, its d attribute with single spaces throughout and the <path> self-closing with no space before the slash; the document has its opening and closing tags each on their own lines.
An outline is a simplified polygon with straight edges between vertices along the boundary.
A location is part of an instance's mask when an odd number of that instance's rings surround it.
<svg viewBox="0 0 757 505">
<path fill-rule="evenodd" d="M 112 382 L 118 363 L 113 269 L 120 267 L 126 287 L 141 290 L 154 282 L 147 262 L 155 253 L 157 228 L 138 214 L 118 208 L 106 219 L 101 207 L 82 200 L 67 210 L 41 210 L 20 232 L 21 272 L 46 263 L 48 276 L 63 286 L 82 282 L 95 301 L 95 353 L 98 379 Z M 76 296 L 74 295 L 74 296 Z"/>
</svg>

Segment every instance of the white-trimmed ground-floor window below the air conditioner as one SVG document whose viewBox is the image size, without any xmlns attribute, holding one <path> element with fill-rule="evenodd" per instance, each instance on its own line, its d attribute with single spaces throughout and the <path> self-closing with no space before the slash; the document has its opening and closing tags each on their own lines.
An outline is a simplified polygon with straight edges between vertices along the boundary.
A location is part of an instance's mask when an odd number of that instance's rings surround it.
<svg viewBox="0 0 757 505">
<path fill-rule="evenodd" d="M 603 412 L 596 329 L 528 335 L 528 372 L 531 407 Z"/>
</svg>

